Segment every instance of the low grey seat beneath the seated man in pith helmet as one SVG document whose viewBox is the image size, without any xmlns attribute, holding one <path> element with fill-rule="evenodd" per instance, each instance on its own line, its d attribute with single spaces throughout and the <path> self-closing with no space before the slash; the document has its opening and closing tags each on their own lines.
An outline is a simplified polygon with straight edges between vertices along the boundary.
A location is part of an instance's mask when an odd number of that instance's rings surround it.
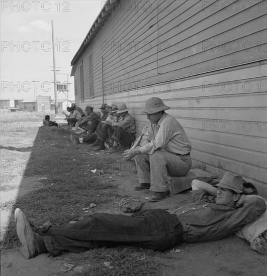
<svg viewBox="0 0 267 276">
<path fill-rule="evenodd" d="M 192 180 L 194 179 L 207 182 L 214 178 L 217 178 L 217 176 L 202 169 L 191 169 L 186 176 L 168 176 L 169 191 L 172 195 L 176 195 L 190 189 Z"/>
</svg>

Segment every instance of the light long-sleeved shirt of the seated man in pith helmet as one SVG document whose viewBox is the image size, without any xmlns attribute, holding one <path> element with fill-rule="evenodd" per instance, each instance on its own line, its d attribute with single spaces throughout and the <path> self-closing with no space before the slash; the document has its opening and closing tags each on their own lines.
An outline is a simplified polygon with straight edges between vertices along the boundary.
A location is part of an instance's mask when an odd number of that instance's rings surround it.
<svg viewBox="0 0 267 276">
<path fill-rule="evenodd" d="M 150 124 L 142 140 L 148 140 L 148 136 L 150 142 L 139 148 L 142 154 L 153 154 L 156 150 L 180 155 L 191 152 L 192 146 L 183 126 L 165 112 L 157 123 Z"/>
</svg>

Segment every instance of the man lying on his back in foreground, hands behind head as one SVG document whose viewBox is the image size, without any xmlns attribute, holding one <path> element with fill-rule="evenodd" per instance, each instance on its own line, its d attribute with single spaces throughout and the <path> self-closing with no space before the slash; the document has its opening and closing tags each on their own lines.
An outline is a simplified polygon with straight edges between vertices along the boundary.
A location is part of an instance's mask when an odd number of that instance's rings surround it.
<svg viewBox="0 0 267 276">
<path fill-rule="evenodd" d="M 79 253 L 119 245 L 163 251 L 183 241 L 224 238 L 266 210 L 259 196 L 243 194 L 241 176 L 228 172 L 214 186 L 194 180 L 193 203 L 178 208 L 174 214 L 162 209 L 144 210 L 132 216 L 93 213 L 76 223 L 42 226 L 36 232 L 17 208 L 15 225 L 22 253 L 26 258 L 47 251 L 57 256 L 63 251 Z"/>
</svg>

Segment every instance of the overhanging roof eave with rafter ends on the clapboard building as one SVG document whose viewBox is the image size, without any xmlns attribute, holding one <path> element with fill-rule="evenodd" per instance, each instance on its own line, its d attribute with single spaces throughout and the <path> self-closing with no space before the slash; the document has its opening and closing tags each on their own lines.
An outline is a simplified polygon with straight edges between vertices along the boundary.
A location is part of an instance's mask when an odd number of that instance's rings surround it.
<svg viewBox="0 0 267 276">
<path fill-rule="evenodd" d="M 114 5 L 117 4 L 120 0 L 107 0 L 105 5 L 103 6 L 101 12 L 99 13 L 97 19 L 93 23 L 92 27 L 88 31 L 85 36 L 81 46 L 73 57 L 70 65 L 73 66 L 77 63 L 79 57 L 83 54 L 83 52 L 87 49 L 87 47 L 91 44 L 94 37 L 97 35 L 99 30 L 102 28 L 106 20 L 110 17 L 112 9 L 114 9 Z"/>
</svg>

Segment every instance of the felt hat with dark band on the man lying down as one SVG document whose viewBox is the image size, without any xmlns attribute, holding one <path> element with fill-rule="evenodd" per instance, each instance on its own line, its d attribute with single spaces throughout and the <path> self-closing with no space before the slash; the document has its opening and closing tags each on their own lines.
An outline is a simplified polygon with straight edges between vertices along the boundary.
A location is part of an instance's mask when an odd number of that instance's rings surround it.
<svg viewBox="0 0 267 276">
<path fill-rule="evenodd" d="M 244 187 L 243 187 L 243 179 L 240 175 L 235 176 L 230 172 L 227 172 L 221 181 L 214 185 L 215 187 L 221 187 L 221 188 L 226 188 L 233 190 L 236 193 L 243 193 L 244 192 Z"/>
</svg>

